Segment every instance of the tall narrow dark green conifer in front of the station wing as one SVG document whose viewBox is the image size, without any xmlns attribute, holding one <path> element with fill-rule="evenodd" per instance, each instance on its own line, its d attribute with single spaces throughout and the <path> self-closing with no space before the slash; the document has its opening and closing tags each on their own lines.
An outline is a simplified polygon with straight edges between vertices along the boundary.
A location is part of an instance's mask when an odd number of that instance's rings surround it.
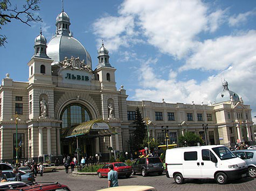
<svg viewBox="0 0 256 191">
<path fill-rule="evenodd" d="M 134 121 L 135 131 L 134 131 L 134 149 L 140 150 L 142 147 L 143 139 L 146 137 L 147 127 L 142 118 L 141 111 L 139 107 L 136 108 L 136 118 Z"/>
</svg>

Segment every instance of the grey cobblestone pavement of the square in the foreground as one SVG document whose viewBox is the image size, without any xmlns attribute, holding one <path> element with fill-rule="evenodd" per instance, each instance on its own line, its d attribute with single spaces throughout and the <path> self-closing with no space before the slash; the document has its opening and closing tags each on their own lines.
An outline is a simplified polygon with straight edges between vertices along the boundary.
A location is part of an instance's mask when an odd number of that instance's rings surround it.
<svg viewBox="0 0 256 191">
<path fill-rule="evenodd" d="M 94 191 L 107 187 L 107 178 L 98 178 L 98 176 L 75 175 L 65 170 L 56 172 L 44 173 L 43 176 L 37 176 L 38 182 L 55 182 L 58 181 L 66 184 L 72 191 L 75 190 L 88 190 Z M 119 178 L 119 185 L 151 185 L 160 190 L 175 190 L 175 191 L 254 191 L 256 190 L 256 179 L 242 178 L 238 180 L 229 181 L 228 184 L 219 185 L 214 180 L 197 180 L 188 179 L 184 184 L 176 184 L 173 178 L 167 178 L 165 173 L 163 175 L 149 175 L 143 177 L 142 175 L 131 176 L 130 178 Z"/>
</svg>

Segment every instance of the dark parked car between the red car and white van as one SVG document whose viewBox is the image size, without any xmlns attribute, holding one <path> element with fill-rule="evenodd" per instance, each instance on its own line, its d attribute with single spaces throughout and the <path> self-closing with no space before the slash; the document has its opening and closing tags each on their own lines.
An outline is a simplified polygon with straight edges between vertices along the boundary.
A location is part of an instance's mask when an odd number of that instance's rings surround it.
<svg viewBox="0 0 256 191">
<path fill-rule="evenodd" d="M 147 176 L 151 172 L 157 172 L 158 175 L 161 175 L 164 171 L 163 162 L 160 157 L 137 158 L 132 168 L 133 175 L 142 173 L 143 176 Z"/>
</svg>

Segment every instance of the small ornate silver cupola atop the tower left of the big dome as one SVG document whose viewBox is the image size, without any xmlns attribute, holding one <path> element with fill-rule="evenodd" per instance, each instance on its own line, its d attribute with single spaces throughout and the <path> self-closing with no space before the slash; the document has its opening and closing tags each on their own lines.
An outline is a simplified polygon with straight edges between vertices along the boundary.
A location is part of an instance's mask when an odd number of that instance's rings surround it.
<svg viewBox="0 0 256 191">
<path fill-rule="evenodd" d="M 49 58 L 48 55 L 46 54 L 46 48 L 47 48 L 47 40 L 42 34 L 42 28 L 40 28 L 40 34 L 36 37 L 35 39 L 35 54 L 34 56 L 36 57 L 45 57 Z"/>
</svg>

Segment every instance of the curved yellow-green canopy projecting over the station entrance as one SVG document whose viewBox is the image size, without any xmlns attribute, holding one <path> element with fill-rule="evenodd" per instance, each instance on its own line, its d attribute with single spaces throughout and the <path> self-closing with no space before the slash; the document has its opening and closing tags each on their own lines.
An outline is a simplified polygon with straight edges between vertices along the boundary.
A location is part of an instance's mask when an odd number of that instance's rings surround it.
<svg viewBox="0 0 256 191">
<path fill-rule="evenodd" d="M 94 119 L 70 128 L 66 134 L 66 138 L 86 134 L 92 134 L 94 136 L 110 136 L 112 134 L 117 134 L 117 132 L 106 121 L 102 119 Z"/>
</svg>

